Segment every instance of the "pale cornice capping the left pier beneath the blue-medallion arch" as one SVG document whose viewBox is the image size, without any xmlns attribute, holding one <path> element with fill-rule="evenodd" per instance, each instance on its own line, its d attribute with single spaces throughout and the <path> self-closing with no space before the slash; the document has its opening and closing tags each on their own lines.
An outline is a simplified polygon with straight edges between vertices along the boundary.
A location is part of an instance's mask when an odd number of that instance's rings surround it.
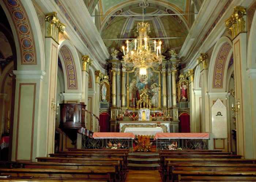
<svg viewBox="0 0 256 182">
<path fill-rule="evenodd" d="M 44 79 L 45 71 L 42 70 L 13 70 L 13 73 L 16 75 L 16 80 L 19 79 Z"/>
</svg>

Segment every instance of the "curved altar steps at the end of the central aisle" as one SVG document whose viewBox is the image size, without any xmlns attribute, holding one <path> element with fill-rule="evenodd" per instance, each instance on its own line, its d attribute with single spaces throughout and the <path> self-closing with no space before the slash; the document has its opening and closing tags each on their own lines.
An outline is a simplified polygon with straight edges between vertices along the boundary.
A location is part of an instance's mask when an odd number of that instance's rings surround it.
<svg viewBox="0 0 256 182">
<path fill-rule="evenodd" d="M 159 154 L 156 153 L 129 153 L 128 169 L 131 170 L 159 170 Z"/>
</svg>

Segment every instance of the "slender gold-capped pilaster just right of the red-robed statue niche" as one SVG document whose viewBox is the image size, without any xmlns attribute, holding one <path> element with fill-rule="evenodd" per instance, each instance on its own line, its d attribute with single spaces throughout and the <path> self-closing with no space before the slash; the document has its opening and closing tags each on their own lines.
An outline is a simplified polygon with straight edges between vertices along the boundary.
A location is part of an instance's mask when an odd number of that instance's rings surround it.
<svg viewBox="0 0 256 182">
<path fill-rule="evenodd" d="M 186 76 L 189 80 L 189 108 L 190 108 L 190 123 L 191 123 L 191 132 L 196 132 L 196 113 L 195 113 L 195 94 L 193 93 L 194 89 L 194 71 L 191 69 L 188 69 L 188 72 L 186 73 Z"/>
</svg>

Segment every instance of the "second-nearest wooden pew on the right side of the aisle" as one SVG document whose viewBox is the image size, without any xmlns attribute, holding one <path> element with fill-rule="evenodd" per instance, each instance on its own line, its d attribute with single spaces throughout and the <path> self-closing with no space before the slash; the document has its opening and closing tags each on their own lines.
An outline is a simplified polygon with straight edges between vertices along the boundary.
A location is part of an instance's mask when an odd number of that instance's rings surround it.
<svg viewBox="0 0 256 182">
<path fill-rule="evenodd" d="M 173 171 L 256 171 L 256 164 L 200 164 L 200 163 L 173 163 L 168 164 L 168 175 L 165 176 L 164 181 L 177 180 L 177 175 L 173 175 Z"/>
</svg>

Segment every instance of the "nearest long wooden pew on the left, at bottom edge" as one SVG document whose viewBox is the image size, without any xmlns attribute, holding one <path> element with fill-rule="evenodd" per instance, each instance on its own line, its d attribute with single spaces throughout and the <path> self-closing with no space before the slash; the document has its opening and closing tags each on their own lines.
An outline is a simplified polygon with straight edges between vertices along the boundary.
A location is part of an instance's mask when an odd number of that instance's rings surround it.
<svg viewBox="0 0 256 182">
<path fill-rule="evenodd" d="M 115 181 L 115 169 L 108 170 L 72 170 L 72 169 L 31 169 L 31 168 L 0 168 L 1 175 L 11 175 L 12 180 L 19 178 L 61 179 L 61 180 L 94 180 Z M 9 178 L 8 178 L 9 180 Z"/>
</svg>

